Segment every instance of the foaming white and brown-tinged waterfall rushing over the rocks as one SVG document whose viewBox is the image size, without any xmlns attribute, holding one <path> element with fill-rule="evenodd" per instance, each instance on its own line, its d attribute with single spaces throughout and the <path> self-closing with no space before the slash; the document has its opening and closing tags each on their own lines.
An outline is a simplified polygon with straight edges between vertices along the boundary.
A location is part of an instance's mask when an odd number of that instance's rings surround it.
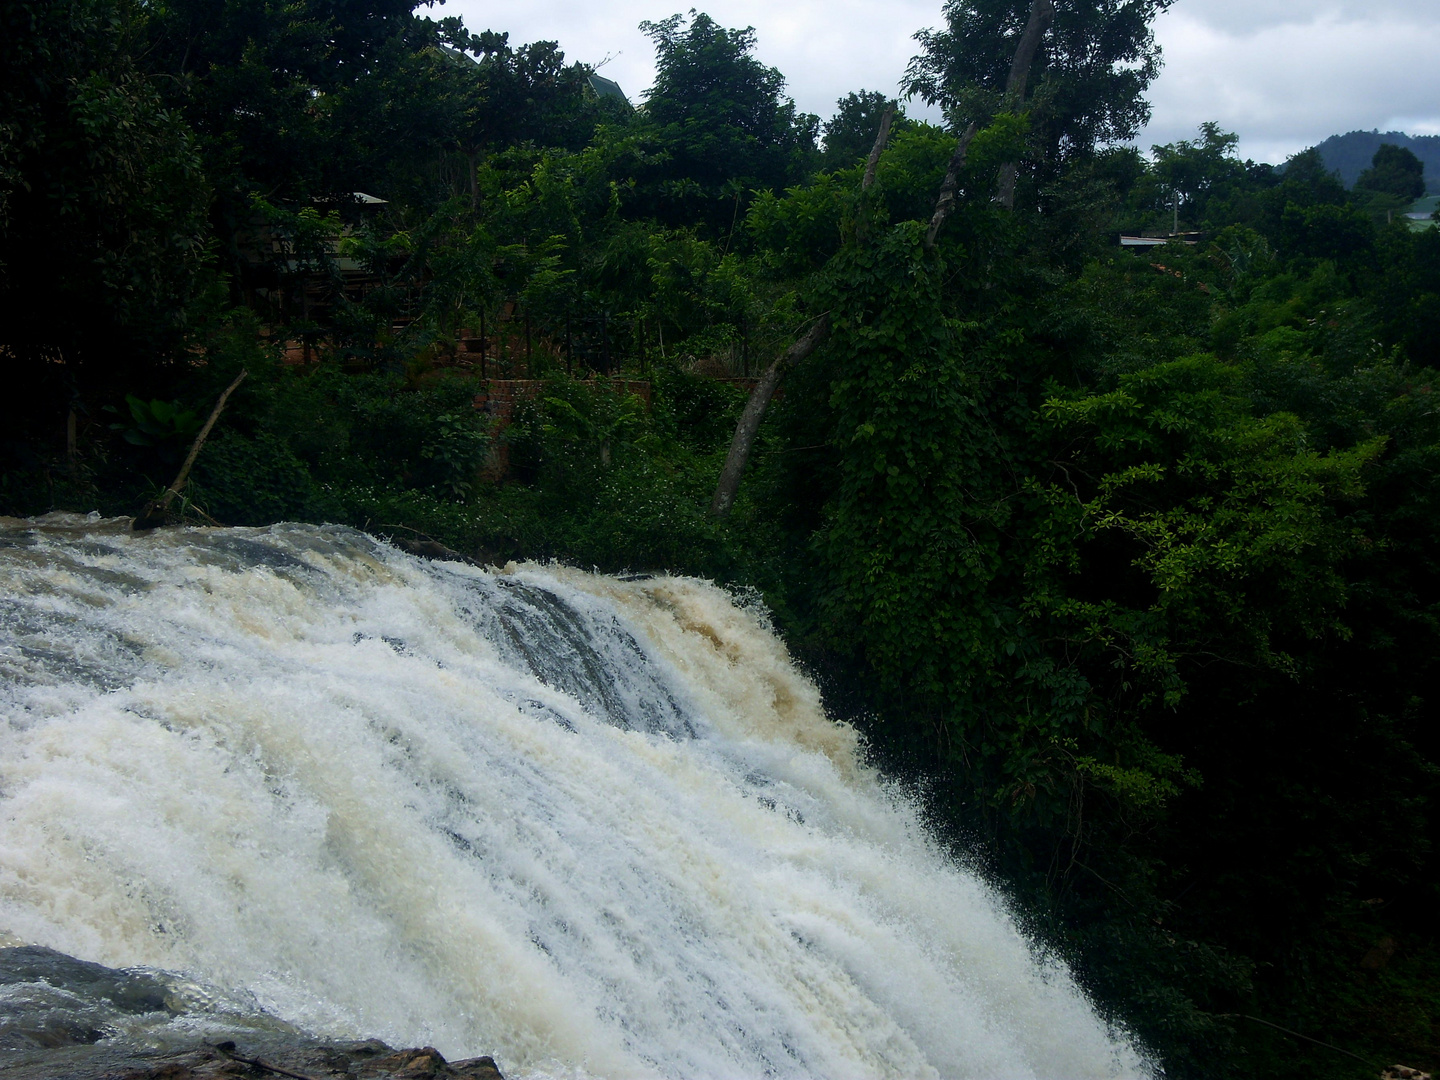
<svg viewBox="0 0 1440 1080">
<path fill-rule="evenodd" d="M 1149 1074 L 763 613 L 334 527 L 0 518 L 0 930 L 513 1076 Z"/>
</svg>

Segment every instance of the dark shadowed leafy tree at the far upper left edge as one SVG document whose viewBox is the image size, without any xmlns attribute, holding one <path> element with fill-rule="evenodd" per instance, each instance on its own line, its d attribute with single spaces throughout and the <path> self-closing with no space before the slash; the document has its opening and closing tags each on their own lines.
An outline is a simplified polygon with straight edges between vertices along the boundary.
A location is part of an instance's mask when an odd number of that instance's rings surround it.
<svg viewBox="0 0 1440 1080">
<path fill-rule="evenodd" d="M 22 0 L 0 19 L 6 354 L 29 419 L 59 435 L 71 405 L 181 354 L 207 288 L 209 190 L 138 62 L 143 6 Z"/>
</svg>

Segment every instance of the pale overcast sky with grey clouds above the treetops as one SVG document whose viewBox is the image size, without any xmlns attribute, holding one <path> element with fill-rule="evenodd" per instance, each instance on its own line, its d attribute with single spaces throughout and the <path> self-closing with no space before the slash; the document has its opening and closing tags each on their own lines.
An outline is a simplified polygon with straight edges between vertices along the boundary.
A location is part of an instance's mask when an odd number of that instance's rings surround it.
<svg viewBox="0 0 1440 1080">
<path fill-rule="evenodd" d="M 1063 1 L 1063 0 L 1061 0 Z M 472 30 L 511 43 L 554 39 L 575 60 L 641 101 L 655 75 L 642 19 L 696 0 L 448 0 Z M 940 0 L 711 0 L 724 26 L 753 26 L 759 58 L 779 68 L 801 109 L 828 118 L 854 89 L 894 92 L 912 35 L 940 22 Z M 1165 69 L 1151 86 L 1145 148 L 1205 120 L 1240 135 L 1240 153 L 1283 161 L 1326 135 L 1380 128 L 1440 134 L 1440 1 L 1178 0 L 1155 24 Z M 912 115 L 923 114 L 917 105 Z"/>
</svg>

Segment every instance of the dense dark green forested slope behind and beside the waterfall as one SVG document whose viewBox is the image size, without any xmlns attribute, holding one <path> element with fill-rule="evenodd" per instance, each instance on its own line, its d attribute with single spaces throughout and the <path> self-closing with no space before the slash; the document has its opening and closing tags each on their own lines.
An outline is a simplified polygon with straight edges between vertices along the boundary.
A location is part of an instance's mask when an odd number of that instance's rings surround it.
<svg viewBox="0 0 1440 1080">
<path fill-rule="evenodd" d="M 950 0 L 936 127 L 696 13 L 631 104 L 413 0 L 10 0 L 0 513 L 135 514 L 245 372 L 176 520 L 757 589 L 1166 1076 L 1440 1066 L 1440 229 L 1130 148 L 1169 1 Z"/>
</svg>

